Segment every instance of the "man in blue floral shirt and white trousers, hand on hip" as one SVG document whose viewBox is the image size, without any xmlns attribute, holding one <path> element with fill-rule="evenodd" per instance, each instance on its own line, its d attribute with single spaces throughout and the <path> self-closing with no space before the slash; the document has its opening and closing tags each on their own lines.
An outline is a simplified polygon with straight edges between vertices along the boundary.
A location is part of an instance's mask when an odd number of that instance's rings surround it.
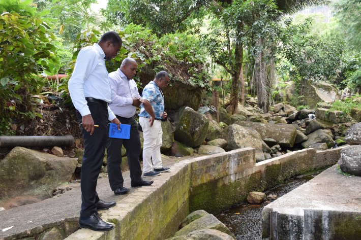
<svg viewBox="0 0 361 240">
<path fill-rule="evenodd" d="M 142 93 L 143 105 L 140 108 L 139 124 L 143 129 L 143 176 L 157 176 L 168 172 L 169 167 L 162 166 L 162 125 L 161 120 L 167 117 L 164 112 L 164 95 L 162 90 L 169 84 L 169 75 L 159 72 L 155 79 L 148 83 Z M 153 165 L 151 161 L 153 160 Z"/>
</svg>

